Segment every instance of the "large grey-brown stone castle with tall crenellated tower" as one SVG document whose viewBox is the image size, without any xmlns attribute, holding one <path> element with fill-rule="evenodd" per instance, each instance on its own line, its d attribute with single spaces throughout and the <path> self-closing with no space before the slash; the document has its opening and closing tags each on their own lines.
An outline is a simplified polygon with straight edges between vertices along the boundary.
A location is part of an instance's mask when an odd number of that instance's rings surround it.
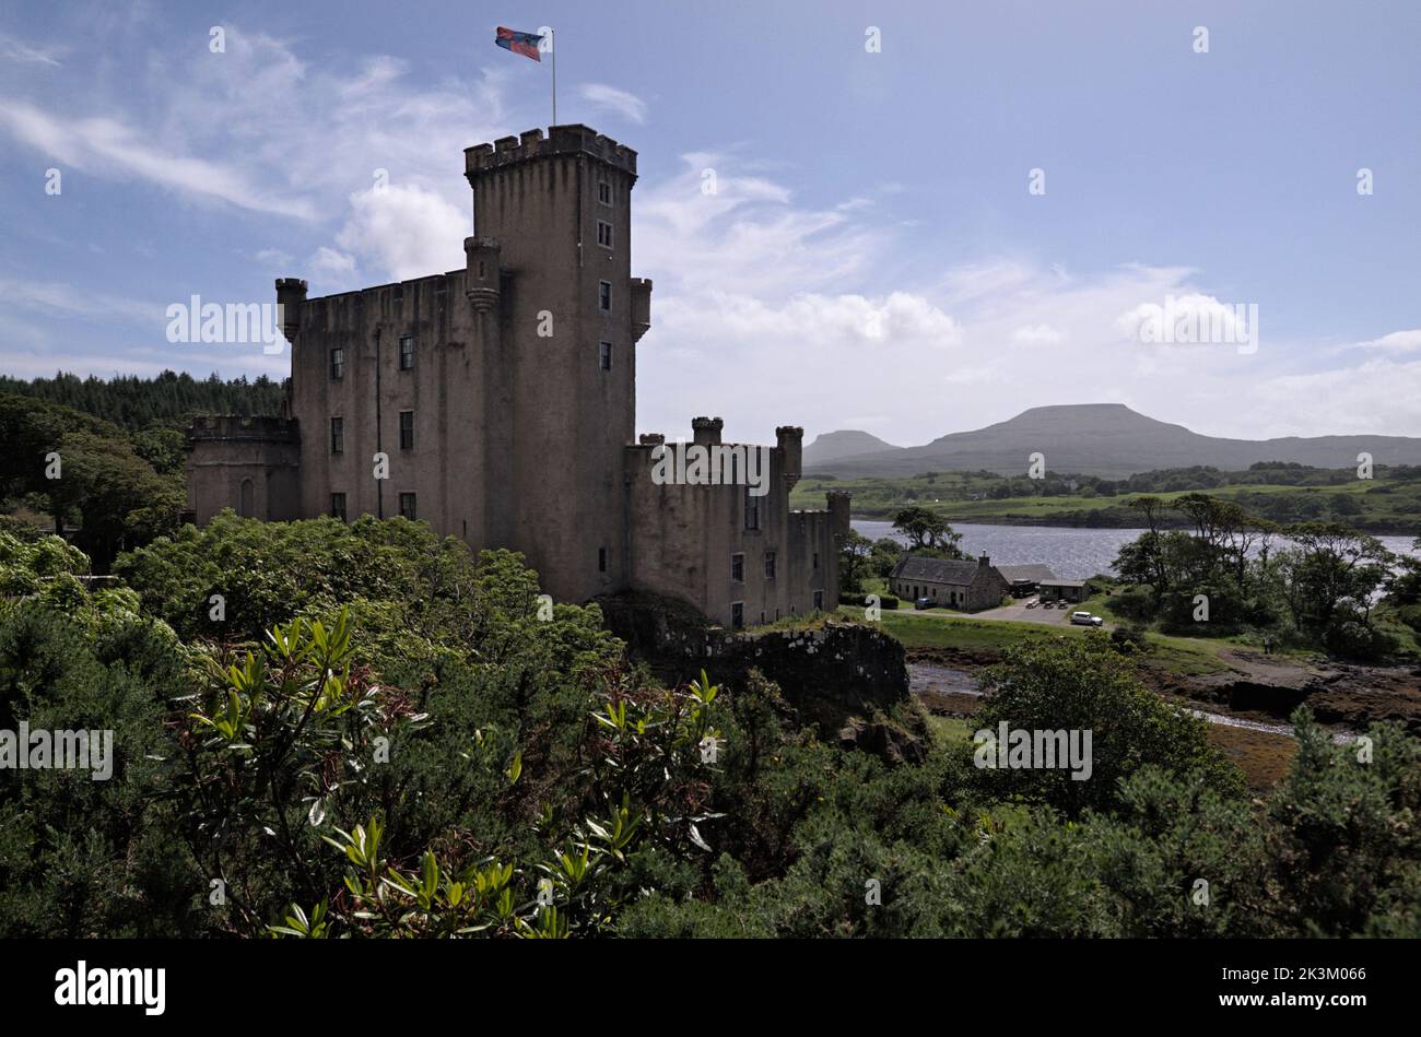
<svg viewBox="0 0 1421 1037">
<path fill-rule="evenodd" d="M 405 516 L 522 551 L 560 601 L 647 591 L 730 628 L 834 608 L 850 500 L 790 510 L 803 429 L 759 447 L 759 487 L 654 477 L 671 447 L 635 435 L 651 327 L 630 259 L 637 152 L 561 125 L 466 149 L 465 175 L 462 270 L 323 298 L 276 283 L 286 412 L 195 420 L 195 521 Z M 720 430 L 696 418 L 692 442 Z"/>
</svg>

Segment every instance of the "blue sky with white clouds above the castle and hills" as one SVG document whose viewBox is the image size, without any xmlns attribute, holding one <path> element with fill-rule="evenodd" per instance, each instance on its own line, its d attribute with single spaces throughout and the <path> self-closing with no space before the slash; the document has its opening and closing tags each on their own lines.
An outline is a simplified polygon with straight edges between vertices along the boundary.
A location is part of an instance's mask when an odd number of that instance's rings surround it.
<svg viewBox="0 0 1421 1037">
<path fill-rule="evenodd" d="M 0 369 L 284 374 L 163 310 L 460 266 L 462 149 L 550 119 L 497 24 L 554 26 L 558 119 L 639 152 L 644 430 L 1421 435 L 1414 0 L 10 4 Z M 1168 297 L 1259 348 L 1142 342 Z"/>
</svg>

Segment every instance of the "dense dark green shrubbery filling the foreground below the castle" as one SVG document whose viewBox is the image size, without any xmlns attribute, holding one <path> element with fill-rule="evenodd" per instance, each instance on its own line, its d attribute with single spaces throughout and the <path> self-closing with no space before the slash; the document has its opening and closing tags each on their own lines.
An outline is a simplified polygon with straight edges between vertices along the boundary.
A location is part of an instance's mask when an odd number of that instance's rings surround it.
<svg viewBox="0 0 1421 1037">
<path fill-rule="evenodd" d="M 418 524 L 223 518 L 132 588 L 85 568 L 0 533 L 0 729 L 115 732 L 108 781 L 0 770 L 4 936 L 1421 935 L 1414 737 L 1300 712 L 1255 801 L 1100 634 L 1012 652 L 978 717 L 1088 729 L 1073 781 L 824 744 L 753 670 L 658 686 Z"/>
</svg>

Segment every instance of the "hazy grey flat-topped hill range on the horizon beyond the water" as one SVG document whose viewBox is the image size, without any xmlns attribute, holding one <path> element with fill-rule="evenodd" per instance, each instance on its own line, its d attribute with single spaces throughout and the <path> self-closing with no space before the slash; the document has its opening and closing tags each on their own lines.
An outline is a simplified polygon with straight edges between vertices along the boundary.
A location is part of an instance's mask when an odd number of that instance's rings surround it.
<svg viewBox="0 0 1421 1037">
<path fill-rule="evenodd" d="M 853 453 L 838 450 L 837 456 L 811 456 L 810 450 L 826 440 L 870 446 Z M 1046 455 L 1052 472 L 1111 479 L 1194 465 L 1238 472 L 1262 460 L 1337 469 L 1356 465 L 1361 452 L 1370 453 L 1377 465 L 1421 465 L 1421 439 L 1407 436 L 1219 439 L 1147 418 L 1124 403 L 1081 403 L 1033 406 L 1010 420 L 953 432 L 926 446 L 891 447 L 865 432 L 830 432 L 804 450 L 804 470 L 845 479 L 921 472 L 1020 474 L 1036 452 Z"/>
</svg>

